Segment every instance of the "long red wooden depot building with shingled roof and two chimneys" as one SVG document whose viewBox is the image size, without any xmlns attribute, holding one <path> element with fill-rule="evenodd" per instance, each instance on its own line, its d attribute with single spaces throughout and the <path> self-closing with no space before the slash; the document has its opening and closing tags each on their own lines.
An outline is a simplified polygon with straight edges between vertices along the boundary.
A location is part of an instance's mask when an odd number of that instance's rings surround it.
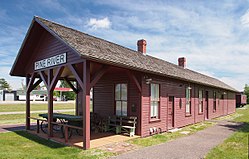
<svg viewBox="0 0 249 159">
<path fill-rule="evenodd" d="M 141 137 L 235 112 L 237 90 L 229 85 L 146 54 L 34 17 L 12 76 L 26 77 L 26 128 L 30 129 L 30 92 L 41 82 L 48 90 L 49 136 L 52 132 L 53 90 L 58 80 L 77 82 L 77 114 L 83 116 L 84 148 L 90 147 L 90 89 L 93 111 L 138 117 Z"/>
</svg>

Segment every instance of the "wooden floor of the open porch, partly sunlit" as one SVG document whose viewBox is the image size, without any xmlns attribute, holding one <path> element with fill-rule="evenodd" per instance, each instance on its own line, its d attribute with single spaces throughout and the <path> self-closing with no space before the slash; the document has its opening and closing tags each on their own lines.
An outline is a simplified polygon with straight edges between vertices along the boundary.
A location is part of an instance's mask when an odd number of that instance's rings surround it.
<svg viewBox="0 0 249 159">
<path fill-rule="evenodd" d="M 65 139 L 62 138 L 61 133 L 54 133 L 54 137 L 48 138 L 47 134 L 40 132 L 36 133 L 36 130 L 30 130 L 28 131 L 31 134 L 38 135 L 39 137 L 45 138 L 45 139 L 50 139 L 55 142 L 59 142 L 68 146 L 76 146 L 79 148 L 83 148 L 83 136 L 80 136 L 76 133 L 72 135 L 72 137 L 69 139 L 67 143 L 65 143 Z M 130 139 L 138 138 L 140 136 L 135 135 L 134 137 L 129 137 L 126 135 L 117 135 L 111 132 L 105 132 L 105 133 L 91 133 L 91 148 L 96 148 L 96 147 L 101 147 L 104 145 L 108 145 L 111 143 L 116 143 L 116 142 L 123 142 L 127 141 Z"/>
</svg>

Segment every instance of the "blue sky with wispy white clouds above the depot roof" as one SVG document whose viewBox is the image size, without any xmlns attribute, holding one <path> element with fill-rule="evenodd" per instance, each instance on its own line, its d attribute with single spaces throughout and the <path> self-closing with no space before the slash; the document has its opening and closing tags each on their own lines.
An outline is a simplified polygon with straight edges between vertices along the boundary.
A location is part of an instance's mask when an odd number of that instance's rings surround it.
<svg viewBox="0 0 249 159">
<path fill-rule="evenodd" d="M 9 71 L 34 15 L 218 78 L 238 90 L 249 84 L 249 1 L 9 0 L 0 2 L 0 77 Z"/>
</svg>

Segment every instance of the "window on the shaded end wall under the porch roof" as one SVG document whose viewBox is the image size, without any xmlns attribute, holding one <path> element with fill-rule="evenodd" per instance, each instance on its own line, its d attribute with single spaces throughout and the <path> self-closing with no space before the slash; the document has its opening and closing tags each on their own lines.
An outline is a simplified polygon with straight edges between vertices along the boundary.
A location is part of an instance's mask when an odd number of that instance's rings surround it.
<svg viewBox="0 0 249 159">
<path fill-rule="evenodd" d="M 115 85 L 116 115 L 127 116 L 127 84 Z"/>
</svg>

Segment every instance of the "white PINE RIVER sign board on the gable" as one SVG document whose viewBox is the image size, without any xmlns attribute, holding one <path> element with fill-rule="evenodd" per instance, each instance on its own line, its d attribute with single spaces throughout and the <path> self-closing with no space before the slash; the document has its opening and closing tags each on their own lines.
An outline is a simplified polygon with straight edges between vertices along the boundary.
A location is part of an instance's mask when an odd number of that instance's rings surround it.
<svg viewBox="0 0 249 159">
<path fill-rule="evenodd" d="M 67 53 L 49 57 L 40 61 L 35 62 L 35 70 L 57 66 L 60 64 L 67 63 Z"/>
</svg>

